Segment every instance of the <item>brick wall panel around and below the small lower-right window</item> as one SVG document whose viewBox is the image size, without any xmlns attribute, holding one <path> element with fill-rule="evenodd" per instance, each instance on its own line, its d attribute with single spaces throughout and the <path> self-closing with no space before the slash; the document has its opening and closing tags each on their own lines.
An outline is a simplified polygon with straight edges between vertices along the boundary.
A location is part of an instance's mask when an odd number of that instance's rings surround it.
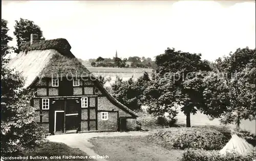
<svg viewBox="0 0 256 161">
<path fill-rule="evenodd" d="M 108 116 L 108 120 L 101 120 L 101 112 L 98 112 L 98 130 L 117 131 L 117 112 L 108 112 Z"/>
</svg>

